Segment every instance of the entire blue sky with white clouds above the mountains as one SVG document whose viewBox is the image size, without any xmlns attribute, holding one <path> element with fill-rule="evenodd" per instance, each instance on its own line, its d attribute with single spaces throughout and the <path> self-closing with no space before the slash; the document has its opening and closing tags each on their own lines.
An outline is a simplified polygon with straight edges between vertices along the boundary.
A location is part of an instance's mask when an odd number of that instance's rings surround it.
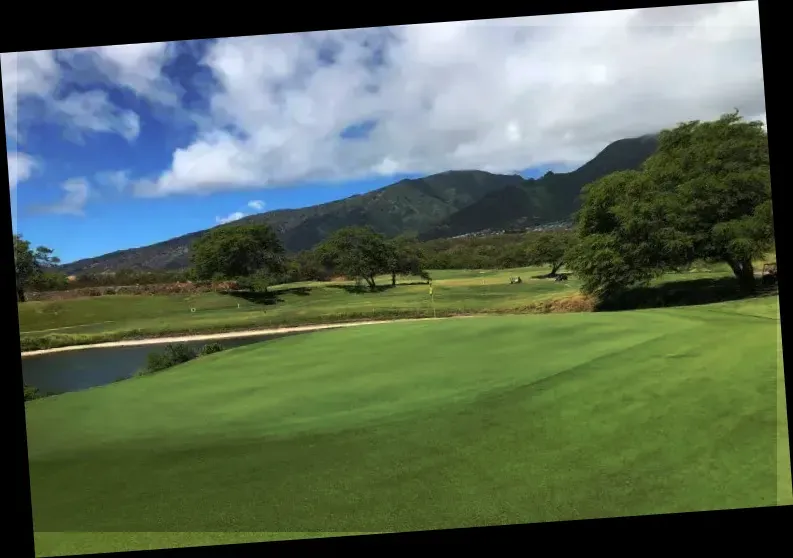
<svg viewBox="0 0 793 558">
<path fill-rule="evenodd" d="M 14 228 L 64 262 L 404 177 L 572 170 L 739 109 L 757 3 L 3 53 Z"/>
</svg>

